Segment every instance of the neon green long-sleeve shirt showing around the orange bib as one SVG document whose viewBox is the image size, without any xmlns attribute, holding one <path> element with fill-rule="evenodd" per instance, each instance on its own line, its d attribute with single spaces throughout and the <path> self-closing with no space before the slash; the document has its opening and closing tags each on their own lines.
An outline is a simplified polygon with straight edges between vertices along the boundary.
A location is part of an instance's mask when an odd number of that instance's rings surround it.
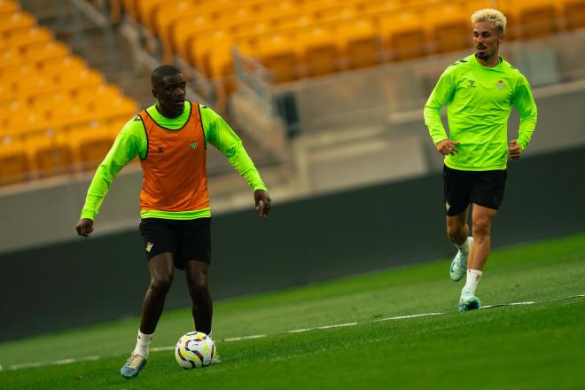
<svg viewBox="0 0 585 390">
<path fill-rule="evenodd" d="M 195 105 L 196 103 L 193 103 Z M 222 117 L 205 105 L 199 105 L 203 132 L 207 143 L 214 145 L 230 161 L 240 175 L 250 184 L 253 190 L 266 190 L 262 183 L 258 170 L 254 167 L 252 160 L 246 153 L 242 141 L 223 121 Z M 152 105 L 146 109 L 152 119 L 166 129 L 181 129 L 189 120 L 191 105 L 185 102 L 185 109 L 181 115 L 169 119 L 164 117 Z M 112 148 L 99 164 L 96 174 L 90 184 L 85 205 L 82 208 L 82 218 L 95 219 L 99 207 L 110 190 L 113 179 L 131 160 L 136 156 L 144 158 L 148 150 L 148 141 L 143 121 L 128 121 L 116 137 Z M 168 212 L 161 210 L 144 210 L 140 213 L 142 218 L 165 218 L 175 220 L 187 220 L 211 216 L 209 207 L 196 211 Z"/>
</svg>

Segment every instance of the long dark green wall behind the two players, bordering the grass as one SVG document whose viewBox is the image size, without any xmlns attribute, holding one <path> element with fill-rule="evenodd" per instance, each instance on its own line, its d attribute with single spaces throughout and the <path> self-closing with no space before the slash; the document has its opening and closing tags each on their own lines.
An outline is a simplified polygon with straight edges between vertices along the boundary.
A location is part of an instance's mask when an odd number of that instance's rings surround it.
<svg viewBox="0 0 585 390">
<path fill-rule="evenodd" d="M 585 230 L 582 167 L 584 147 L 511 163 L 493 245 Z M 277 203 L 266 220 L 214 217 L 214 298 L 450 256 L 441 188 L 435 173 Z M 148 285 L 136 229 L 0 254 L 0 264 L 0 339 L 139 315 Z M 179 272 L 166 307 L 189 304 Z"/>
</svg>

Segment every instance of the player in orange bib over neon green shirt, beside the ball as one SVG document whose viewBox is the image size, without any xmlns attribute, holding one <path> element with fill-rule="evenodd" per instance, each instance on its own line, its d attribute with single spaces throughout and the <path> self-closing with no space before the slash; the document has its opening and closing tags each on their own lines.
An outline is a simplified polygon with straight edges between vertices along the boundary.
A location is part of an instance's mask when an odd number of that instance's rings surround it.
<svg viewBox="0 0 585 390">
<path fill-rule="evenodd" d="M 151 283 L 144 296 L 136 347 L 121 368 L 133 378 L 144 368 L 174 270 L 184 269 L 196 331 L 211 333 L 213 301 L 207 285 L 211 260 L 206 151 L 212 144 L 250 184 L 256 210 L 266 217 L 270 197 L 241 140 L 222 117 L 205 105 L 185 100 L 186 83 L 175 66 L 152 72 L 155 105 L 121 129 L 90 184 L 75 227 L 88 237 L 114 177 L 136 156 L 144 171 L 140 194 L 140 233 Z M 214 363 L 218 360 L 215 359 Z"/>
</svg>

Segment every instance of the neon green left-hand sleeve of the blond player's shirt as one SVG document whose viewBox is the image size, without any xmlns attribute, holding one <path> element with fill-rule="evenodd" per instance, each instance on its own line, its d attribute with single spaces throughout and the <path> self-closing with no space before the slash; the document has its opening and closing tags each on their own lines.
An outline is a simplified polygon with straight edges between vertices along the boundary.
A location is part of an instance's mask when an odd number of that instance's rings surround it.
<svg viewBox="0 0 585 390">
<path fill-rule="evenodd" d="M 441 121 L 441 109 L 453 99 L 455 82 L 449 68 L 441 74 L 439 82 L 435 85 L 431 96 L 425 104 L 425 125 L 429 129 L 429 135 L 433 138 L 433 144 L 438 144 L 448 139 L 447 131 Z"/>
</svg>

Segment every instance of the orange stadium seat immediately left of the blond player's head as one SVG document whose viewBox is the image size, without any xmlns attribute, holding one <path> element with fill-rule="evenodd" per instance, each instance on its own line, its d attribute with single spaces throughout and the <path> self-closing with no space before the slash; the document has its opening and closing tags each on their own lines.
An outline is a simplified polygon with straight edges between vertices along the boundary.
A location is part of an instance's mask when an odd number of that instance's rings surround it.
<svg viewBox="0 0 585 390">
<path fill-rule="evenodd" d="M 441 8 L 441 18 L 435 18 L 435 11 L 429 12 L 426 19 L 432 25 L 431 41 L 434 51 L 445 53 L 460 51 L 472 46 L 472 27 L 467 9 L 447 4 Z"/>
</svg>

